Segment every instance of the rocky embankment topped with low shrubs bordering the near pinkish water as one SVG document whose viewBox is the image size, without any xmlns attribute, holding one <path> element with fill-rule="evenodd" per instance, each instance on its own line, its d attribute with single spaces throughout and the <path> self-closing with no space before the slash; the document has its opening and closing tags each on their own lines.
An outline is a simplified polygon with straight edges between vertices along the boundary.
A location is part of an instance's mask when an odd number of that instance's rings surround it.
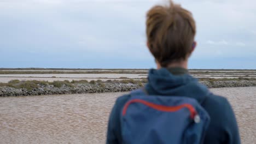
<svg viewBox="0 0 256 144">
<path fill-rule="evenodd" d="M 253 87 L 256 86 L 255 78 L 235 79 L 211 79 L 201 78 L 200 82 L 208 88 L 220 87 Z M 11 80 L 8 83 L 0 83 L 0 97 L 25 96 L 25 95 L 49 95 L 71 93 L 105 93 L 127 92 L 143 87 L 147 79 L 141 80 L 79 80 L 79 81 L 19 81 Z"/>
</svg>

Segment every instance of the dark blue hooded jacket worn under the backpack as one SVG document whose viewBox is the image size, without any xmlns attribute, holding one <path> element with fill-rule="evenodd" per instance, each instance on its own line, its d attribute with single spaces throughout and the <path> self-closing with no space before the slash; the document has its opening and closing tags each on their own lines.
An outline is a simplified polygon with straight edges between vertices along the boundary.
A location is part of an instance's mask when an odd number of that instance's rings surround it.
<svg viewBox="0 0 256 144">
<path fill-rule="evenodd" d="M 204 143 L 240 143 L 236 118 L 229 101 L 211 93 L 191 75 L 173 75 L 166 68 L 151 69 L 145 88 L 149 95 L 185 96 L 199 101 L 211 117 Z M 129 97 L 129 94 L 123 95 L 115 102 L 108 123 L 109 144 L 122 143 L 120 113 Z"/>
</svg>

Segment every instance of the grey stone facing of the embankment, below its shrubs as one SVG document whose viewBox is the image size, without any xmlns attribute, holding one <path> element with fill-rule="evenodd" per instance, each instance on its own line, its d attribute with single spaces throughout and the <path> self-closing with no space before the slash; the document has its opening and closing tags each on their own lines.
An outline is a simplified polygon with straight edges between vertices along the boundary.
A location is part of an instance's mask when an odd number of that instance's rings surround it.
<svg viewBox="0 0 256 144">
<path fill-rule="evenodd" d="M 253 87 L 256 81 L 200 81 L 208 88 L 222 87 Z M 144 85 L 145 83 L 142 83 Z M 77 83 L 73 87 L 62 85 L 38 85 L 37 88 L 13 88 L 8 86 L 0 87 L 0 97 L 26 96 L 26 95 L 50 95 L 50 94 L 75 94 L 75 93 L 107 93 L 107 92 L 128 92 L 142 87 L 141 83 Z"/>
</svg>

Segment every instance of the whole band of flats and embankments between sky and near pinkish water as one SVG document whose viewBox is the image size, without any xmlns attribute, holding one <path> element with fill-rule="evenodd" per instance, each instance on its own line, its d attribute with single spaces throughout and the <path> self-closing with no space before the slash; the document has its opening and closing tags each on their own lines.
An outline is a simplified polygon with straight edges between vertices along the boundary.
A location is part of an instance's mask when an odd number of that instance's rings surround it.
<svg viewBox="0 0 256 144">
<path fill-rule="evenodd" d="M 190 69 L 208 88 L 256 86 L 256 70 Z M 0 97 L 127 92 L 147 83 L 148 69 L 4 69 Z"/>
</svg>

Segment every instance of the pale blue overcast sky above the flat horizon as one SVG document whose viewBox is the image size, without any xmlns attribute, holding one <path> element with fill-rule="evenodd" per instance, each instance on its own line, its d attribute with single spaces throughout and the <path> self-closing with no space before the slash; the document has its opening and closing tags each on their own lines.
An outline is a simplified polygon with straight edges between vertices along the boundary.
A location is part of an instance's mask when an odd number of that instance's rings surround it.
<svg viewBox="0 0 256 144">
<path fill-rule="evenodd" d="M 162 0 L 0 0 L 0 68 L 154 68 L 145 17 Z M 256 1 L 182 0 L 189 68 L 256 69 Z"/>
</svg>

